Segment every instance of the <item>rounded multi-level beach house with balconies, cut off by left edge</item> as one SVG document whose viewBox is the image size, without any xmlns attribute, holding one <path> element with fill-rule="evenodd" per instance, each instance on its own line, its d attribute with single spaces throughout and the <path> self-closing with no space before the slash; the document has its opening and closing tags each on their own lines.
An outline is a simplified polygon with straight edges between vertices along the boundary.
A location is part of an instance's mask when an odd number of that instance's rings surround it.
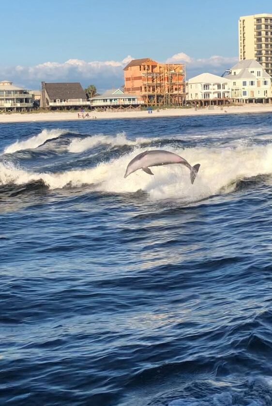
<svg viewBox="0 0 272 406">
<path fill-rule="evenodd" d="M 33 95 L 11 81 L 0 82 L 0 111 L 29 111 L 33 107 Z"/>
</svg>

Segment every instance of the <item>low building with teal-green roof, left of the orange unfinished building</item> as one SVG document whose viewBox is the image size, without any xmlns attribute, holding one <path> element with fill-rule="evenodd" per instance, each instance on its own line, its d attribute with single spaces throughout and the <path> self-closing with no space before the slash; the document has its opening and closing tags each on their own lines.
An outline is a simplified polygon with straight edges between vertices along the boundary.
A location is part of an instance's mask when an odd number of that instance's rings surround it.
<svg viewBox="0 0 272 406">
<path fill-rule="evenodd" d="M 144 103 L 141 96 L 126 94 L 121 89 L 107 90 L 103 95 L 90 98 L 91 107 L 126 109 L 136 108 Z"/>
</svg>

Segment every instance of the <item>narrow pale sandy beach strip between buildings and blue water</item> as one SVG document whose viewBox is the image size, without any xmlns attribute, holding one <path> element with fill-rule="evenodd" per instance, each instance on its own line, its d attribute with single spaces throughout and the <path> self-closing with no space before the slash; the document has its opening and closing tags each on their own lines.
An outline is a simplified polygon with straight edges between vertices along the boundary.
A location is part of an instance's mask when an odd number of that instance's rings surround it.
<svg viewBox="0 0 272 406">
<path fill-rule="evenodd" d="M 199 115 L 228 115 L 228 114 L 249 114 L 249 113 L 272 113 L 272 104 L 268 105 L 243 105 L 243 106 L 214 106 L 211 108 L 197 109 L 159 109 L 148 111 L 121 111 L 121 112 L 88 112 L 89 118 L 78 118 L 78 112 L 48 112 L 48 113 L 11 113 L 0 114 L 0 124 L 5 123 L 23 123 L 40 121 L 92 121 L 116 119 L 116 118 L 158 118 L 158 117 L 186 117 Z"/>
</svg>

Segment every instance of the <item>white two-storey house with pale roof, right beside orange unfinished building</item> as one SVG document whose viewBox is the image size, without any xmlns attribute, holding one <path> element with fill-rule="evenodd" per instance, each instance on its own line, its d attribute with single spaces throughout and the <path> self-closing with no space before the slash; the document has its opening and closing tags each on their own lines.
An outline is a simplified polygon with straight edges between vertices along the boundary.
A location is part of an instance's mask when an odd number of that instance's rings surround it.
<svg viewBox="0 0 272 406">
<path fill-rule="evenodd" d="M 231 84 L 226 77 L 202 73 L 186 83 L 186 101 L 199 107 L 229 103 Z"/>
</svg>

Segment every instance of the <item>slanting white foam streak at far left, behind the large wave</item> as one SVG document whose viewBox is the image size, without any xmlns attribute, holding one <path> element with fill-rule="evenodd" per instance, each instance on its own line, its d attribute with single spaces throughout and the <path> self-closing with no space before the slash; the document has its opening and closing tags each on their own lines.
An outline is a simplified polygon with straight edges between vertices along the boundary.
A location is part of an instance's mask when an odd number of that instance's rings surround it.
<svg viewBox="0 0 272 406">
<path fill-rule="evenodd" d="M 13 152 L 20 151 L 23 149 L 33 149 L 41 146 L 47 140 L 51 140 L 53 138 L 58 138 L 60 135 L 66 134 L 67 130 L 60 130 L 60 129 L 53 129 L 53 130 L 43 130 L 38 135 L 34 135 L 33 137 L 28 138 L 25 141 L 16 141 L 14 144 L 7 146 L 3 154 L 12 154 Z"/>
</svg>

